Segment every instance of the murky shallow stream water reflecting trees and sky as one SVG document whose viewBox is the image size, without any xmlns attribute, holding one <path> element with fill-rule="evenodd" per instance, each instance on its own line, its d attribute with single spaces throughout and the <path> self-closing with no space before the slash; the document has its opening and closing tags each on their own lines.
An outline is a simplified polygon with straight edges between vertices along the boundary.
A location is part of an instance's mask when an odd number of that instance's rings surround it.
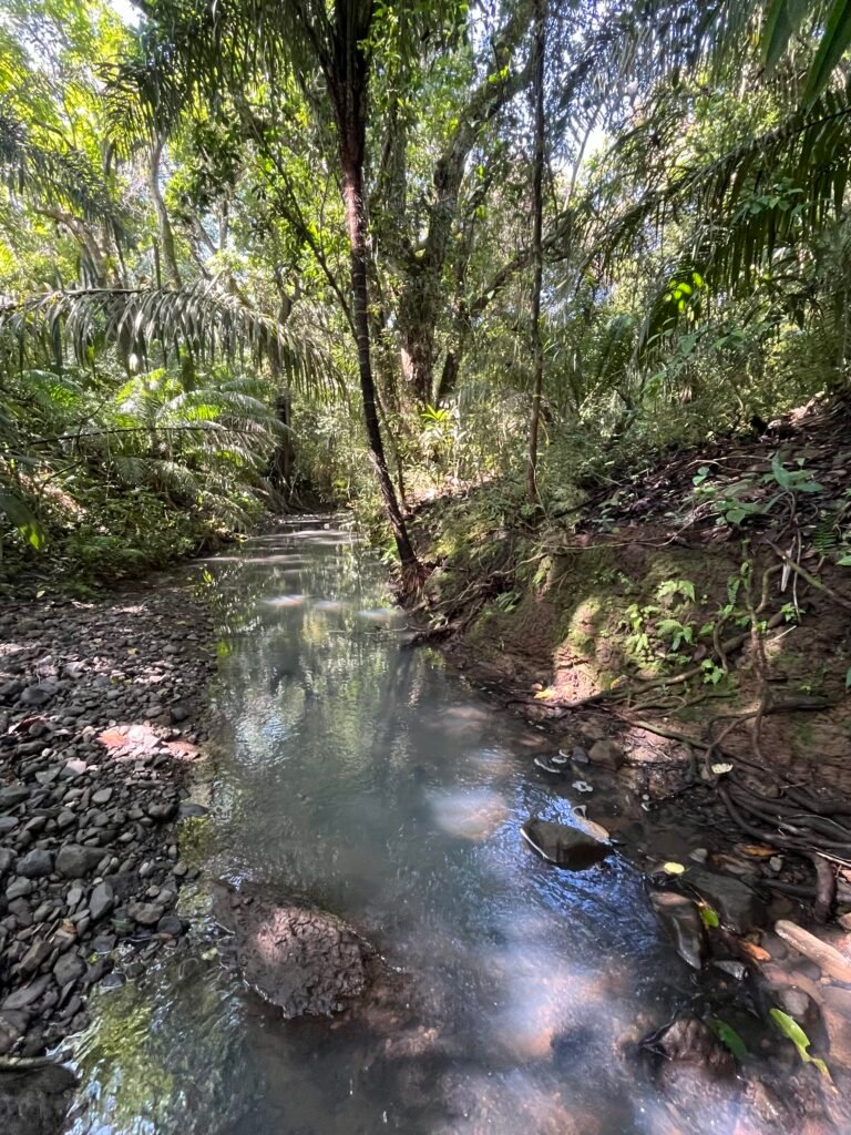
<svg viewBox="0 0 851 1135">
<path fill-rule="evenodd" d="M 394 981 L 284 1023 L 202 930 L 194 957 L 102 995 L 75 1135 L 667 1135 L 630 1056 L 691 975 L 617 856 L 550 867 L 521 824 L 568 821 L 539 735 L 404 642 L 368 550 L 315 519 L 208 561 L 217 760 L 204 873 L 347 918 Z M 587 802 L 574 793 L 573 802 Z M 690 1126 L 724 1132 L 723 1108 Z"/>
</svg>

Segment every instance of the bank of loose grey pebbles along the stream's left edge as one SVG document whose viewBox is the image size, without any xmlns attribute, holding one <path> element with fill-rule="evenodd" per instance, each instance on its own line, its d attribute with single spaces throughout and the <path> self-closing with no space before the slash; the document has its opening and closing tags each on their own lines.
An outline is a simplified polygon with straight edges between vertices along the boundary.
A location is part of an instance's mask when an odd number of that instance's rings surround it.
<svg viewBox="0 0 851 1135">
<path fill-rule="evenodd" d="M 79 1032 L 94 985 L 186 930 L 211 631 L 174 580 L 0 612 L 0 1056 Z"/>
</svg>

